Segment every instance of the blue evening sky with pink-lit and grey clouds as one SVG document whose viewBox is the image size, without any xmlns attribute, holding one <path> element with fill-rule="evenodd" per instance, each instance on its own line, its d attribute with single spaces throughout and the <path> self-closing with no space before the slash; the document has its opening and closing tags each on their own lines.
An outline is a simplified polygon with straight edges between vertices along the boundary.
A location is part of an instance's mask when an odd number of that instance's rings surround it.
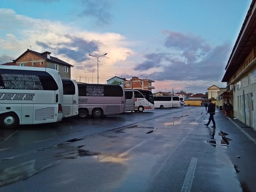
<svg viewBox="0 0 256 192">
<path fill-rule="evenodd" d="M 0 64 L 27 49 L 73 65 L 71 78 L 156 81 L 205 93 L 222 77 L 252 0 L 2 0 Z M 151 75 L 151 76 L 149 76 Z M 93 78 L 92 78 L 93 77 Z"/>
</svg>

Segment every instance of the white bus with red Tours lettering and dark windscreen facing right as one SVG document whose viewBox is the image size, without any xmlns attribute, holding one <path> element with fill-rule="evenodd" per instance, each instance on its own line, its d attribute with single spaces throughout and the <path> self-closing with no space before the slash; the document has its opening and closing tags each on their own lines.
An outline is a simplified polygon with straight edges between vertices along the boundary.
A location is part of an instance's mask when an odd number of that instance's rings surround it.
<svg viewBox="0 0 256 192">
<path fill-rule="evenodd" d="M 151 91 L 134 90 L 134 111 L 154 110 L 154 98 Z"/>
</svg>

